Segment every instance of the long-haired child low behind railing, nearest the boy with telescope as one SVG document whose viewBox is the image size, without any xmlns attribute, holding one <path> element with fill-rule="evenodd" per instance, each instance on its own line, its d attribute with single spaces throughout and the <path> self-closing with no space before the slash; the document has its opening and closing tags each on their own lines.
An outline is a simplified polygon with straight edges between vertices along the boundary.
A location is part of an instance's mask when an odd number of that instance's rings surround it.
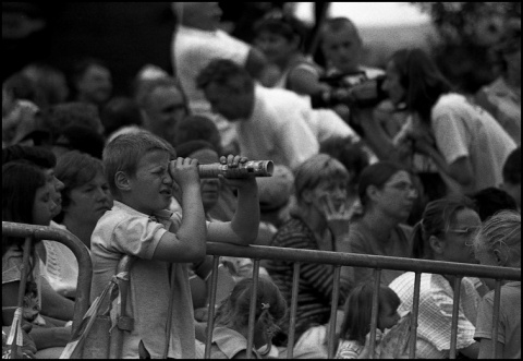
<svg viewBox="0 0 523 361">
<path fill-rule="evenodd" d="M 218 308 L 212 330 L 211 359 L 245 359 L 252 352 L 256 359 L 271 349 L 271 339 L 279 329 L 277 323 L 287 313 L 287 302 L 278 287 L 268 278 L 258 278 L 254 348 L 247 350 L 248 314 L 254 281 L 244 278 L 236 284 L 231 296 Z M 260 348 L 266 347 L 262 353 Z"/>
</svg>

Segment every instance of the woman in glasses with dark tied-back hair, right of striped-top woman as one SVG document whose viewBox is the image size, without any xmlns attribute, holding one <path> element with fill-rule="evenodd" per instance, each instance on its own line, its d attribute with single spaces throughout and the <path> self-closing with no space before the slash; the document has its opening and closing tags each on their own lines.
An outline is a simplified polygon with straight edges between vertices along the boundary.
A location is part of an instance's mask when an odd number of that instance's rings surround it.
<svg viewBox="0 0 523 361">
<path fill-rule="evenodd" d="M 350 251 L 412 257 L 411 228 L 404 225 L 417 196 L 411 175 L 392 163 L 374 164 L 361 175 L 358 195 L 363 213 L 352 219 Z M 373 275 L 373 268 L 348 268 L 353 285 Z M 384 269 L 380 280 L 387 286 L 399 275 L 400 270 Z"/>
</svg>

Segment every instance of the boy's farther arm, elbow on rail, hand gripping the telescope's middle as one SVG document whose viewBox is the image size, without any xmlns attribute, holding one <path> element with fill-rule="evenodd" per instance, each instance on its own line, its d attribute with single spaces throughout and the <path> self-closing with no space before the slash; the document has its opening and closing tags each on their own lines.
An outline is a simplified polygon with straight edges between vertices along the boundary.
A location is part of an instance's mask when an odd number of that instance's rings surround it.
<svg viewBox="0 0 523 361">
<path fill-rule="evenodd" d="M 238 167 L 239 163 L 247 158 L 239 156 L 221 157 L 222 164 Z M 207 240 L 210 242 L 224 242 L 248 245 L 256 241 L 259 228 L 259 201 L 258 186 L 254 178 L 224 179 L 229 186 L 238 189 L 236 212 L 230 222 L 210 222 Z"/>
</svg>

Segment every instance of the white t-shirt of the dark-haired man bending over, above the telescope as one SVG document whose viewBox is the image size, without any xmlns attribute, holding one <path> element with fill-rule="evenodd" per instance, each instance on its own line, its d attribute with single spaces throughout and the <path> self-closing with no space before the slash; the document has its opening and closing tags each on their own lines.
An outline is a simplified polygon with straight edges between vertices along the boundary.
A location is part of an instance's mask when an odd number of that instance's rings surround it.
<svg viewBox="0 0 523 361">
<path fill-rule="evenodd" d="M 309 127 L 312 108 L 296 94 L 255 87 L 253 113 L 236 121 L 240 152 L 250 159 L 269 159 L 291 169 L 319 152 Z"/>
</svg>

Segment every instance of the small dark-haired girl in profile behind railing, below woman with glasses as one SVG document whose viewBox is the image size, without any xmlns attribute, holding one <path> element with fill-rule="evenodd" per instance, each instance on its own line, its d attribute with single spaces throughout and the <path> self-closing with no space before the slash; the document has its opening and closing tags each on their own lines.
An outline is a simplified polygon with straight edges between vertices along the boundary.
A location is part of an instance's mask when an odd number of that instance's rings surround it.
<svg viewBox="0 0 523 361">
<path fill-rule="evenodd" d="M 337 359 L 368 359 L 370 353 L 370 318 L 373 308 L 374 281 L 356 286 L 349 294 L 344 320 L 340 330 L 340 342 Z M 389 287 L 381 285 L 378 303 L 378 329 L 376 346 L 382 332 L 391 328 L 400 320 L 398 308 L 400 298 Z"/>
</svg>

